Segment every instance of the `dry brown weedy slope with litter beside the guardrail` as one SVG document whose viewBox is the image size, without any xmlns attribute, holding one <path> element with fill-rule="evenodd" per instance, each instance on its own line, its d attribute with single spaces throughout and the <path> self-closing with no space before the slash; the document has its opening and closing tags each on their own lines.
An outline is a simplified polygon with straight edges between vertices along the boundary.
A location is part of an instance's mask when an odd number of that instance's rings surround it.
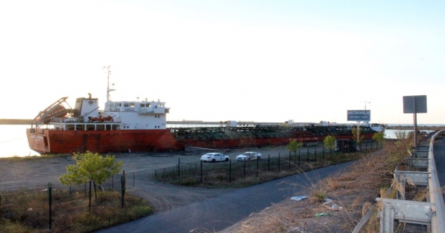
<svg viewBox="0 0 445 233">
<path fill-rule="evenodd" d="M 384 149 L 355 161 L 353 166 L 323 180 L 312 181 L 304 193 L 305 200 L 284 200 L 252 214 L 241 223 L 223 232 L 353 232 L 355 226 L 373 207 L 375 198 L 385 195 L 394 178 L 397 164 L 408 156 L 411 139 L 387 142 Z M 416 189 L 410 186 L 408 191 Z M 416 190 L 416 200 L 425 198 L 425 191 Z M 387 195 L 395 195 L 394 191 Z M 326 202 L 329 198 L 330 202 Z M 378 208 L 378 206 L 377 206 Z M 326 216 L 316 217 L 316 214 Z M 403 229 L 398 226 L 398 230 Z M 380 232 L 379 219 L 374 211 L 361 232 Z"/>
</svg>

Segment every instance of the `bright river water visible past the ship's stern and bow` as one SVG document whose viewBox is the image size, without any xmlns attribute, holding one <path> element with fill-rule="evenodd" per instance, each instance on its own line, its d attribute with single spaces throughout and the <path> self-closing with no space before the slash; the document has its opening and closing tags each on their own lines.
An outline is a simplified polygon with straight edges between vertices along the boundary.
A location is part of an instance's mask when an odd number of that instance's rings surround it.
<svg viewBox="0 0 445 233">
<path fill-rule="evenodd" d="M 29 149 L 26 139 L 27 124 L 0 124 L 0 157 L 40 155 Z M 398 130 L 387 129 L 385 138 L 396 138 Z M 407 130 L 412 131 L 412 130 Z"/>
</svg>

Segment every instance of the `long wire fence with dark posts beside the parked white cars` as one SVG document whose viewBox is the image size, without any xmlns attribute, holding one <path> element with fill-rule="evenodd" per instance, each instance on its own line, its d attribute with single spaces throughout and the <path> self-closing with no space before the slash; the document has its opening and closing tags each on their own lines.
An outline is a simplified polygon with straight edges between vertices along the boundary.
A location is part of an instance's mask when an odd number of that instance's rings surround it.
<svg viewBox="0 0 445 233">
<path fill-rule="evenodd" d="M 355 146 L 355 145 L 354 145 Z M 349 147 L 348 147 L 349 148 Z M 362 143 L 361 152 L 372 152 L 381 148 L 375 141 Z M 349 152 L 349 149 L 346 151 Z M 203 163 L 202 161 L 181 163 L 176 166 L 154 170 L 156 182 L 170 182 L 182 179 L 185 184 L 197 184 L 208 179 L 232 182 L 234 179 L 258 177 L 266 172 L 300 172 L 341 160 L 350 161 L 349 153 L 341 150 L 325 148 L 305 148 L 289 154 L 270 154 L 261 156 L 259 160 L 232 161 L 228 163 Z M 183 184 L 184 184 L 183 182 Z"/>
</svg>

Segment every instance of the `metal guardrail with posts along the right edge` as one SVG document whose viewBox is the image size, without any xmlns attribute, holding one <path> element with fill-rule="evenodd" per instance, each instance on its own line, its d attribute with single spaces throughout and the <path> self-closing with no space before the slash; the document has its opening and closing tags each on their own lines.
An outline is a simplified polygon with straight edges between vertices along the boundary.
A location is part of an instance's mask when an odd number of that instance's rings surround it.
<svg viewBox="0 0 445 233">
<path fill-rule="evenodd" d="M 428 168 L 428 172 L 394 171 L 394 178 L 403 182 L 403 184 L 405 184 L 406 179 L 410 179 L 416 185 L 428 186 L 429 202 L 405 200 L 404 195 L 397 195 L 398 199 L 376 198 L 378 202 L 382 202 L 382 211 L 378 212 L 380 233 L 394 232 L 394 220 L 403 223 L 429 225 L 432 233 L 445 232 L 445 204 L 444 198 L 442 198 L 442 188 L 437 177 L 433 147 L 435 138 L 444 132 L 445 130 L 438 131 L 431 137 L 429 146 L 419 146 L 413 153 L 412 158 L 405 159 L 409 166 Z M 392 188 L 394 187 L 391 186 L 387 193 Z M 357 224 L 353 233 L 358 233 L 371 218 L 374 207 L 378 202 Z"/>
</svg>

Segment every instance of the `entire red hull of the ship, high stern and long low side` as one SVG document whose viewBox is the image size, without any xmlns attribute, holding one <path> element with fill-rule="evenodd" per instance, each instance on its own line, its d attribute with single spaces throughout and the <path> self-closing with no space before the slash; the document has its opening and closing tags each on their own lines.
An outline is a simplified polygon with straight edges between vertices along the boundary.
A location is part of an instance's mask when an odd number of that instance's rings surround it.
<svg viewBox="0 0 445 233">
<path fill-rule="evenodd" d="M 184 139 L 176 140 L 170 129 L 151 130 L 54 130 L 26 129 L 29 147 L 40 154 L 67 154 L 73 152 L 169 152 L 184 150 L 186 146 L 206 147 L 211 149 L 229 149 L 243 146 L 280 146 L 291 140 L 304 143 L 321 142 L 325 136 L 301 138 L 252 138 L 247 143 L 238 139 Z M 371 139 L 373 134 L 365 134 Z M 352 136 L 336 136 L 337 139 L 352 139 Z"/>
</svg>

